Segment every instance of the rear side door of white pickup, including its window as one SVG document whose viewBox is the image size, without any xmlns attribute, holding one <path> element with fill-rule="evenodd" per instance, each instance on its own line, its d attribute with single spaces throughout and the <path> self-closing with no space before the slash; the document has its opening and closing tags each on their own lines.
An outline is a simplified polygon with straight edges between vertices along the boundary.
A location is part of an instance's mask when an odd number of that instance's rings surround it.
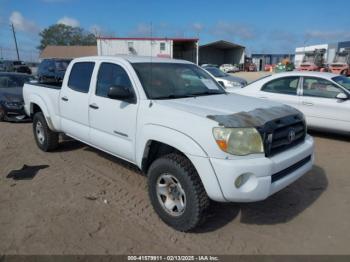
<svg viewBox="0 0 350 262">
<path fill-rule="evenodd" d="M 62 130 L 89 143 L 89 90 L 94 62 L 77 62 L 60 93 Z"/>
</svg>

